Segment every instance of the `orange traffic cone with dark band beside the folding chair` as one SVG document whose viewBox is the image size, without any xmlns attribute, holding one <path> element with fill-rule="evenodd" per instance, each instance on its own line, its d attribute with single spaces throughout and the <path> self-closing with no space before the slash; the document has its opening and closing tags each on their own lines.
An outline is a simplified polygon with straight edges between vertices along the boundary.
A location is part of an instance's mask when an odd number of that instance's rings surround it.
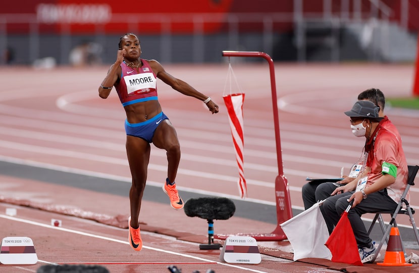
<svg viewBox="0 0 419 273">
<path fill-rule="evenodd" d="M 384 256 L 384 262 L 378 262 L 378 265 L 385 266 L 409 266 L 411 263 L 406 263 L 404 259 L 403 247 L 401 245 L 401 239 L 398 228 L 391 228 L 390 237 L 388 239 L 388 245 L 386 255 Z"/>
</svg>

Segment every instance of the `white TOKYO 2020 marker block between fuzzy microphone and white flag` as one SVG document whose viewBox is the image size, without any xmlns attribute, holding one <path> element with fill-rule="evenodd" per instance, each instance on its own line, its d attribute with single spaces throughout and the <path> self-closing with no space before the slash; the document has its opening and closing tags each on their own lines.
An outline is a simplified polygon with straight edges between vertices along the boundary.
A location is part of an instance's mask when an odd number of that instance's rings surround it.
<svg viewBox="0 0 419 273">
<path fill-rule="evenodd" d="M 220 253 L 220 260 L 228 263 L 260 263 L 257 242 L 249 236 L 229 236 Z"/>
</svg>

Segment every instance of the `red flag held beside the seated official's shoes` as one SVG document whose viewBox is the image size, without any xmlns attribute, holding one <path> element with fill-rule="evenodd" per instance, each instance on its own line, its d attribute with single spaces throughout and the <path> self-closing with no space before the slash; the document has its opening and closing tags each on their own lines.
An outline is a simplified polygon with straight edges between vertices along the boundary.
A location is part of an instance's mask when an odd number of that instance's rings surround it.
<svg viewBox="0 0 419 273">
<path fill-rule="evenodd" d="M 348 212 L 344 211 L 338 224 L 325 244 L 332 252 L 333 262 L 344 262 L 353 265 L 363 265 L 359 257 L 358 245 L 351 223 L 348 219 Z"/>
</svg>

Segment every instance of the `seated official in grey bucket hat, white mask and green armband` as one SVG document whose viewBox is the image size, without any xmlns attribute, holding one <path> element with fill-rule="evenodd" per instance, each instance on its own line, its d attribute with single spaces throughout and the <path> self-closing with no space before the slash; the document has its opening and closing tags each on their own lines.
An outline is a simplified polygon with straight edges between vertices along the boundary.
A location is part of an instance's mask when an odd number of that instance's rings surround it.
<svg viewBox="0 0 419 273">
<path fill-rule="evenodd" d="M 336 226 L 341 214 L 353 200 L 348 219 L 363 263 L 370 262 L 377 249 L 361 219 L 364 213 L 394 211 L 407 185 L 407 162 L 401 139 L 380 123 L 379 107 L 370 101 L 357 101 L 350 111 L 352 133 L 365 137 L 368 159 L 360 179 L 337 187 L 320 209 L 328 226 Z M 379 255 L 377 256 L 379 257 Z"/>
</svg>

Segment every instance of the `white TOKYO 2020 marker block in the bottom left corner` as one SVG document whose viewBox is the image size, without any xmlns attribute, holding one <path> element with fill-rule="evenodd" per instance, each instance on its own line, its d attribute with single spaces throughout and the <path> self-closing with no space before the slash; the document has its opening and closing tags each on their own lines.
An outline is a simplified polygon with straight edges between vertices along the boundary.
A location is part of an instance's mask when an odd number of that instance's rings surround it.
<svg viewBox="0 0 419 273">
<path fill-rule="evenodd" d="M 3 264 L 35 264 L 38 256 L 29 237 L 6 237 L 0 246 L 0 262 Z"/>
</svg>

